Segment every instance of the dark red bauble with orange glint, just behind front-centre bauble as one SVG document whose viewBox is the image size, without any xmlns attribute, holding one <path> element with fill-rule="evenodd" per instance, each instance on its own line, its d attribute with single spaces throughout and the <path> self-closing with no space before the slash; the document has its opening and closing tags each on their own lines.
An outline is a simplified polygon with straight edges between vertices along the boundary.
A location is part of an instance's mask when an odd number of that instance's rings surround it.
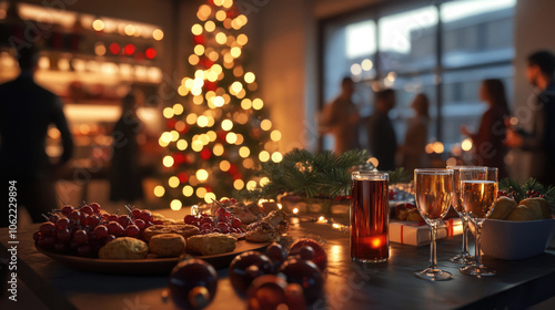
<svg viewBox="0 0 555 310">
<path fill-rule="evenodd" d="M 272 262 L 259 251 L 238 255 L 230 264 L 230 281 L 239 294 L 244 296 L 251 282 L 262 275 L 272 273 Z"/>
</svg>

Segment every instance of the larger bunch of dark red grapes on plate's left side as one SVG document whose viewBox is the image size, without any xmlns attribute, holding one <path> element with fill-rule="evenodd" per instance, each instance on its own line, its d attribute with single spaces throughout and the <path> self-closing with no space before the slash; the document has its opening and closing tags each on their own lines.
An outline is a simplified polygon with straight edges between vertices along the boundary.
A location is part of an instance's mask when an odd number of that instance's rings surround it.
<svg viewBox="0 0 555 310">
<path fill-rule="evenodd" d="M 52 211 L 48 221 L 39 227 L 33 239 L 44 250 L 64 255 L 98 257 L 102 246 L 118 237 L 141 238 L 151 225 L 163 224 L 154 220 L 150 210 L 128 209 L 129 215 L 101 213 L 97 203 L 79 208 L 64 205 Z M 58 214 L 61 213 L 61 216 Z"/>
</svg>

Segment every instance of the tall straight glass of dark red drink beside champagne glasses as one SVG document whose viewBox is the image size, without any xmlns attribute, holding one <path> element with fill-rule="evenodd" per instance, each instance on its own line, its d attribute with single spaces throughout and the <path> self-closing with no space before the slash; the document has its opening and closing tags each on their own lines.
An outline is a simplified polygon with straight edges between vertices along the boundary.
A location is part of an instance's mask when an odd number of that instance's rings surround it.
<svg viewBox="0 0 555 310">
<path fill-rule="evenodd" d="M 390 257 L 389 175 L 353 173 L 351 194 L 351 258 L 384 262 Z"/>
</svg>

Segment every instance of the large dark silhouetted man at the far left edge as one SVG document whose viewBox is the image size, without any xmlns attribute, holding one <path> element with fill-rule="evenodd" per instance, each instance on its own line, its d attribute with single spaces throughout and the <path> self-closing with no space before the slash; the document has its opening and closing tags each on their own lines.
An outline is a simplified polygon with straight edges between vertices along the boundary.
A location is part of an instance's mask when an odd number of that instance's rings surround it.
<svg viewBox="0 0 555 310">
<path fill-rule="evenodd" d="M 43 221 L 41 214 L 57 207 L 53 175 L 70 159 L 73 149 L 60 99 L 34 83 L 38 56 L 34 48 L 18 51 L 20 75 L 0 85 L 0 175 L 6 193 L 2 199 L 8 200 L 9 182 L 16 180 L 17 205 L 24 206 L 34 223 Z M 56 164 L 46 153 L 50 124 L 58 127 L 63 144 Z M 0 226 L 8 226 L 8 203 L 3 206 Z"/>
</svg>

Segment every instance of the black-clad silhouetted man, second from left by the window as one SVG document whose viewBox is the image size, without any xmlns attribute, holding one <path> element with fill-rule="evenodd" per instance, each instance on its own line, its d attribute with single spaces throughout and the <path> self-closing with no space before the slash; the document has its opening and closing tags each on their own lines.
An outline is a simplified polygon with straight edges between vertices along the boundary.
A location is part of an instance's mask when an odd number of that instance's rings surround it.
<svg viewBox="0 0 555 310">
<path fill-rule="evenodd" d="M 370 153 L 377 158 L 380 170 L 393 170 L 395 169 L 397 137 L 387 114 L 395 107 L 395 91 L 386 89 L 377 92 L 374 97 L 375 110 L 369 120 Z"/>
</svg>

